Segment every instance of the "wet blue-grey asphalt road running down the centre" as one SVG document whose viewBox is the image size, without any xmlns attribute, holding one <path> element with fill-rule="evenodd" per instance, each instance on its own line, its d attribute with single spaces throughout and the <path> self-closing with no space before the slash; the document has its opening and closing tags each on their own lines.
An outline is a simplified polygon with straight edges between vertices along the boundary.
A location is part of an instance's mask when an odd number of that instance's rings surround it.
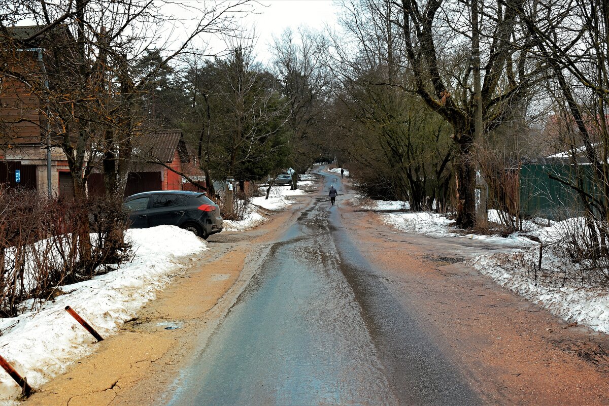
<svg viewBox="0 0 609 406">
<path fill-rule="evenodd" d="M 340 175 L 323 175 L 170 404 L 480 404 L 410 316 L 407 292 L 359 253 L 327 197 Z"/>
</svg>

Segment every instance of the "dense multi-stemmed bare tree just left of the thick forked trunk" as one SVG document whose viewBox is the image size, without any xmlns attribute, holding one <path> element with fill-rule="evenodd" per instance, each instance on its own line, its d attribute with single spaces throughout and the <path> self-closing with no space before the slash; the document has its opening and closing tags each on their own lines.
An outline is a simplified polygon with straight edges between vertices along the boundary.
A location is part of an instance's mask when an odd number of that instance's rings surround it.
<svg viewBox="0 0 609 406">
<path fill-rule="evenodd" d="M 362 0 L 343 8 L 345 35 L 334 38 L 334 73 L 342 84 L 340 149 L 351 172 L 374 197 L 407 200 L 413 209 L 443 210 L 451 178 L 451 133 L 410 90 L 404 35 L 391 1 Z"/>
</svg>

